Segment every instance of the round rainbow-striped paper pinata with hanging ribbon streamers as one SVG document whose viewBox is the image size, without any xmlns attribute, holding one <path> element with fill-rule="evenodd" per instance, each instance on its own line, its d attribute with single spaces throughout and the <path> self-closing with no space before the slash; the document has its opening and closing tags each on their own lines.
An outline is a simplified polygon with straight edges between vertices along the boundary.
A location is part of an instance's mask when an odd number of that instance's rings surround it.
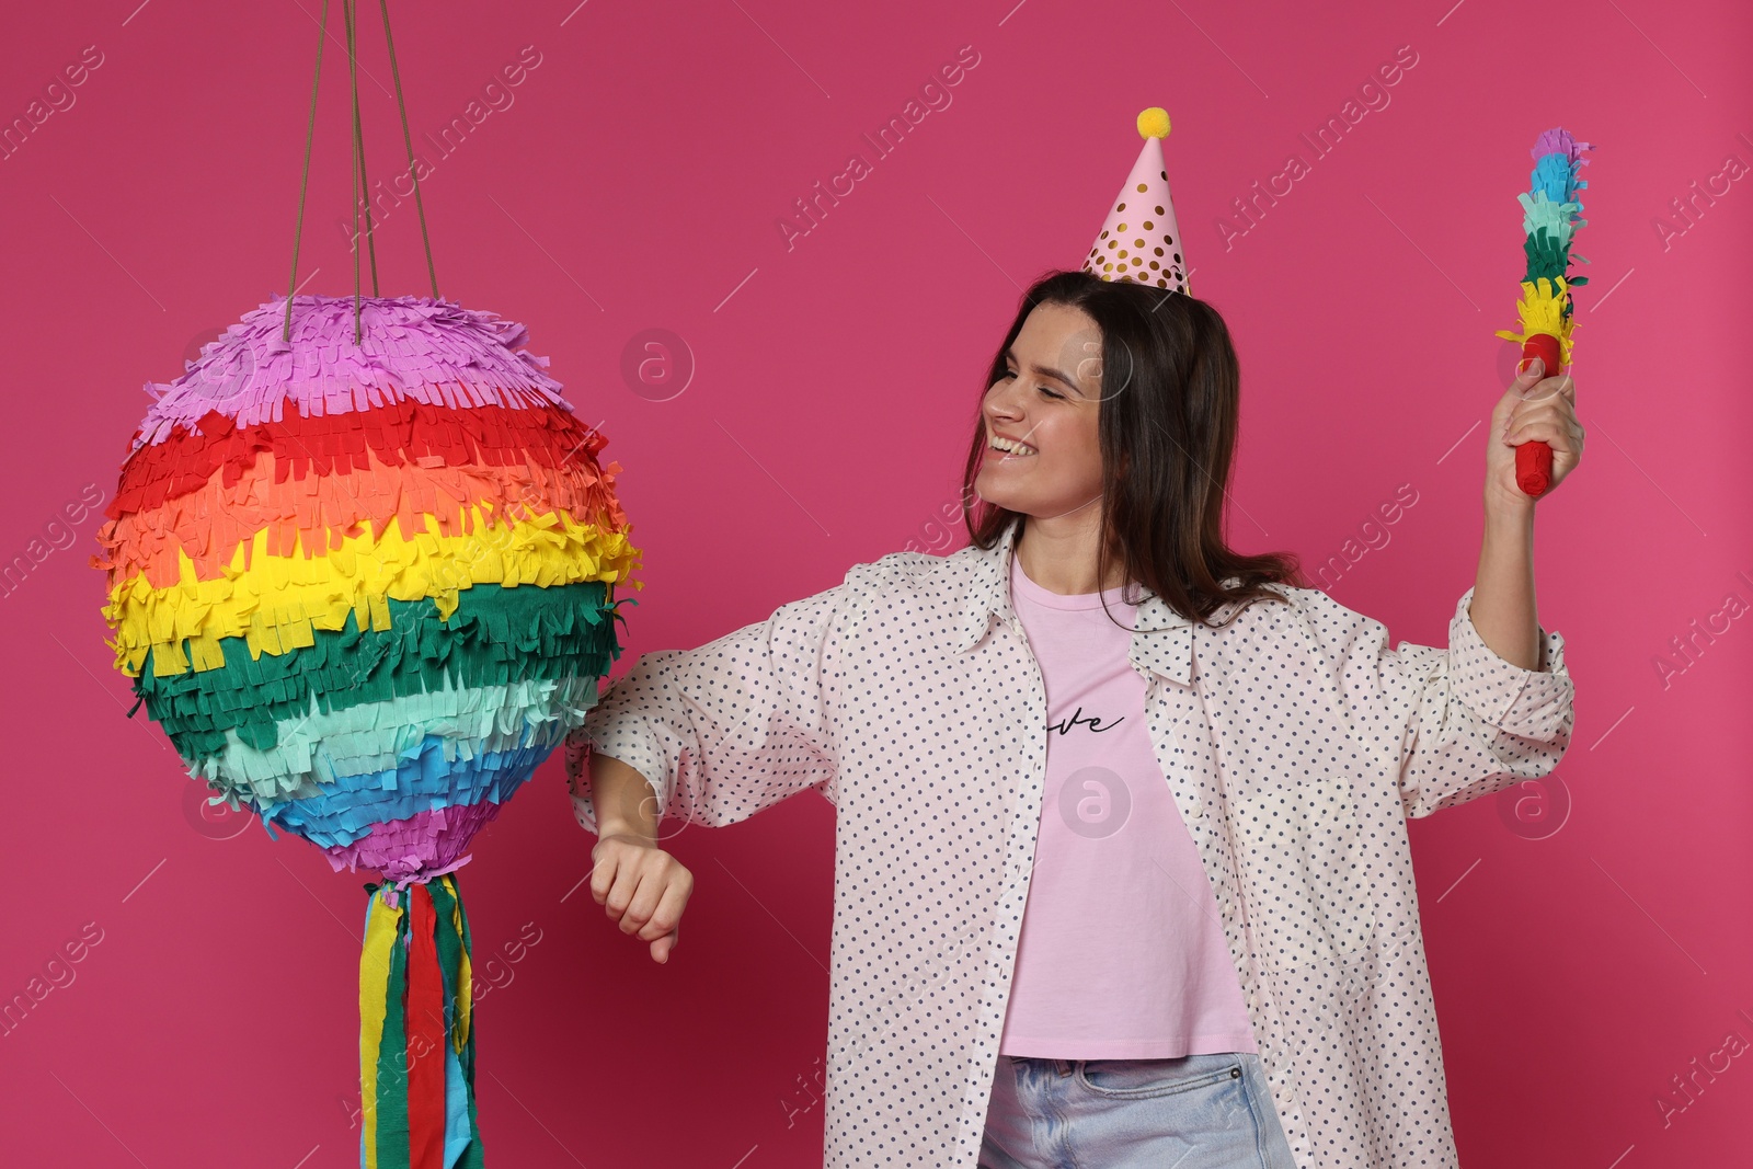
<svg viewBox="0 0 1753 1169">
<path fill-rule="evenodd" d="M 361 1164 L 479 1165 L 451 873 L 621 655 L 621 466 L 521 324 L 366 296 L 356 340 L 352 296 L 295 296 L 284 340 L 286 307 L 147 386 L 93 557 L 109 645 L 210 803 L 386 878 Z"/>
</svg>

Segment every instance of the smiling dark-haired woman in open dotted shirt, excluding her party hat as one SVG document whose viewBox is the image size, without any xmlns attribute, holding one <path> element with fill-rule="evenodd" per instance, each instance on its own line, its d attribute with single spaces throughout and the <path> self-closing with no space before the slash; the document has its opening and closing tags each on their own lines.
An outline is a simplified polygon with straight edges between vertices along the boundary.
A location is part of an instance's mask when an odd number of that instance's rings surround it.
<svg viewBox="0 0 1753 1169">
<path fill-rule="evenodd" d="M 1236 426 L 1210 305 L 1050 273 L 969 547 L 647 654 L 570 741 L 591 892 L 659 962 L 692 890 L 659 813 L 836 804 L 829 1165 L 1455 1164 L 1404 820 L 1569 743 L 1515 447 L 1564 480 L 1574 386 L 1492 414 L 1446 650 L 1225 547 Z"/>
</svg>

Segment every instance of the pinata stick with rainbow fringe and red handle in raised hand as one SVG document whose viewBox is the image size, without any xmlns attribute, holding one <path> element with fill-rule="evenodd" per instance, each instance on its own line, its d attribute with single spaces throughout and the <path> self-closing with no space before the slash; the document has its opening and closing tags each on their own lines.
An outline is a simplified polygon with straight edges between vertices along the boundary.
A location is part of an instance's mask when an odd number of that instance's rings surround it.
<svg viewBox="0 0 1753 1169">
<path fill-rule="evenodd" d="M 1571 235 L 1588 221 L 1578 217 L 1583 202 L 1578 191 L 1588 186 L 1576 172 L 1590 159 L 1583 151 L 1595 149 L 1578 142 L 1567 130 L 1555 128 L 1534 142 L 1534 170 L 1522 202 L 1522 228 L 1527 231 L 1523 252 L 1527 275 L 1522 277 L 1522 329 L 1499 329 L 1495 335 L 1522 344 L 1522 363 L 1539 358 L 1546 377 L 1571 365 L 1571 287 L 1588 284 L 1588 277 L 1571 277 L 1569 266 L 1583 256 L 1571 254 Z M 1518 366 L 1522 365 L 1518 363 Z M 1546 491 L 1551 482 L 1551 447 L 1532 440 L 1516 447 L 1516 482 L 1530 496 Z"/>
</svg>

